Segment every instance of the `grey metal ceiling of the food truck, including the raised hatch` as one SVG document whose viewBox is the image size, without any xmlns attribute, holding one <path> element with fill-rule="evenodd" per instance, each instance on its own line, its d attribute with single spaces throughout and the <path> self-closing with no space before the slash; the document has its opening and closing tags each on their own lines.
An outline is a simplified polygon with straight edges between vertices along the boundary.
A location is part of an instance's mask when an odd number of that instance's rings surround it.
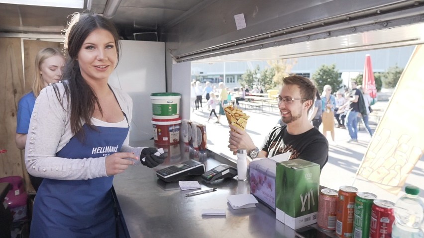
<svg viewBox="0 0 424 238">
<path fill-rule="evenodd" d="M 85 0 L 84 6 L 87 8 L 90 3 L 91 11 L 102 14 L 108 1 Z M 281 59 L 423 44 L 423 0 L 393 3 L 376 0 L 375 8 L 362 10 L 359 10 L 362 1 L 358 1 L 352 12 L 340 8 L 339 5 L 347 2 L 345 0 L 305 1 L 303 6 L 299 3 L 293 9 L 288 9 L 288 3 L 293 3 L 289 0 L 249 0 L 246 1 L 248 5 L 242 5 L 243 2 L 121 0 L 111 19 L 123 39 L 134 40 L 137 34 L 154 34 L 155 40 L 167 42 L 167 47 L 171 45 L 170 48 L 176 49 L 172 51 L 177 52 L 173 55 L 176 62 Z M 332 13 L 331 7 L 340 12 Z M 234 12 L 252 9 L 253 13 L 246 15 L 248 28 L 233 30 L 227 20 L 231 20 Z M 257 9 L 262 12 L 257 14 Z M 282 9 L 286 10 L 286 15 Z M 325 9 L 329 11 L 327 18 L 319 15 Z M 0 37 L 61 40 L 60 32 L 69 20 L 67 17 L 83 10 L 0 3 Z M 300 20 L 308 20 L 308 17 L 294 17 L 302 13 L 311 15 L 309 22 L 301 24 Z M 331 14 L 337 15 L 329 17 Z M 201 19 L 214 19 L 214 22 L 208 25 L 208 20 Z M 271 28 L 279 30 L 271 31 Z"/>
</svg>

